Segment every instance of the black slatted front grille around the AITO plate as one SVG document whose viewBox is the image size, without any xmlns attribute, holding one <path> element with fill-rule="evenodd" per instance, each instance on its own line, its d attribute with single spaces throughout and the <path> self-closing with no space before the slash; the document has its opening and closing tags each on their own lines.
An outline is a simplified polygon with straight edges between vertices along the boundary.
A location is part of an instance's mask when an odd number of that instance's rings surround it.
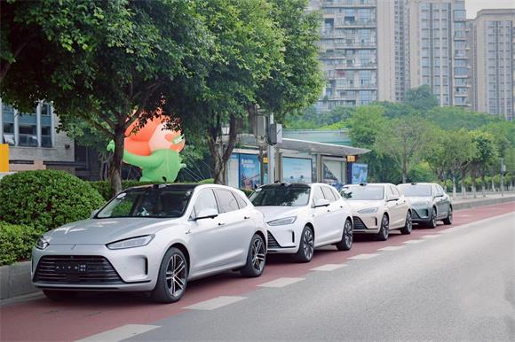
<svg viewBox="0 0 515 342">
<path fill-rule="evenodd" d="M 80 265 L 81 271 L 68 273 L 63 265 Z M 111 263 L 102 256 L 52 255 L 37 264 L 34 282 L 39 284 L 123 284 Z"/>
</svg>

